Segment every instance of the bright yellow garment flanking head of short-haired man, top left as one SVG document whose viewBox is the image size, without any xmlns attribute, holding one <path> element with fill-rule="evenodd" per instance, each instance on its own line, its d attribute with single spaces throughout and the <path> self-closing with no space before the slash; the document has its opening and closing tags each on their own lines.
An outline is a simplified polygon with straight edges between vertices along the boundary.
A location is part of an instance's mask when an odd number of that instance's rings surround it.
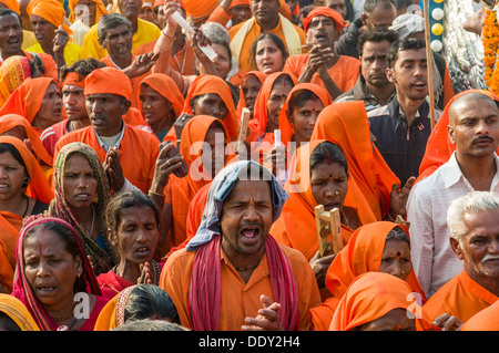
<svg viewBox="0 0 499 353">
<path fill-rule="evenodd" d="M 142 44 L 157 40 L 161 31 L 157 25 L 138 19 L 136 32 L 133 34 L 132 53 Z M 96 24 L 90 28 L 81 48 L 80 59 L 95 58 L 101 60 L 108 55 L 108 51 L 101 46 L 98 40 Z"/>
</svg>

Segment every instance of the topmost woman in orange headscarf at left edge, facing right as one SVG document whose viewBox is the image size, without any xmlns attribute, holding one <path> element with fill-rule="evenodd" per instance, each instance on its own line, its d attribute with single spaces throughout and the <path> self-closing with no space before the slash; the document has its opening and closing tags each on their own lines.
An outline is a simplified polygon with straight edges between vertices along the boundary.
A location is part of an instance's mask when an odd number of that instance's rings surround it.
<svg viewBox="0 0 499 353">
<path fill-rule="evenodd" d="M 59 84 L 49 77 L 26 79 L 0 110 L 0 116 L 24 116 L 41 134 L 62 117 L 62 95 Z"/>
</svg>

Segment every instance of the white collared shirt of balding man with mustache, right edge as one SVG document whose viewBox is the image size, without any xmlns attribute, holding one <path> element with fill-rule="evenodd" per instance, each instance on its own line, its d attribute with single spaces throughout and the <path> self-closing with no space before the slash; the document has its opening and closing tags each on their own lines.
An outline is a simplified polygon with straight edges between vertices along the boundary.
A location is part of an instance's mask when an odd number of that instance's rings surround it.
<svg viewBox="0 0 499 353">
<path fill-rule="evenodd" d="M 499 158 L 493 154 L 497 173 L 490 190 L 499 194 Z M 417 183 L 407 200 L 410 222 L 410 256 L 416 277 L 427 298 L 462 271 L 462 262 L 450 247 L 447 209 L 450 203 L 475 191 L 465 178 L 454 153 L 429 177 Z"/>
</svg>

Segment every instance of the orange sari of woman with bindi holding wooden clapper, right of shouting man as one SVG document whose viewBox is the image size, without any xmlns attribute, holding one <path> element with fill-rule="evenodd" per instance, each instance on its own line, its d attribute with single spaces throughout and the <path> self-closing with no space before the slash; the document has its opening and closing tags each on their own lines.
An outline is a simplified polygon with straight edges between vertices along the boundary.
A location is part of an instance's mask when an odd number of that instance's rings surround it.
<svg viewBox="0 0 499 353">
<path fill-rule="evenodd" d="M 310 185 L 310 155 L 314 149 L 325 142 L 316 139 L 301 148 L 293 155 L 285 189 L 289 198 L 284 204 L 279 218 L 274 222 L 269 233 L 281 243 L 299 250 L 309 261 L 318 251 L 317 228 L 315 224 L 314 208 L 317 201 L 312 194 Z M 369 205 L 359 193 L 355 180 L 348 180 L 349 197 L 345 198 L 345 205 L 354 208 L 363 224 L 376 221 Z M 347 203 L 348 201 L 348 203 Z M 352 203 L 355 201 L 355 203 Z M 344 246 L 347 245 L 353 229 L 342 225 Z M 332 241 L 330 236 L 328 240 Z"/>
</svg>

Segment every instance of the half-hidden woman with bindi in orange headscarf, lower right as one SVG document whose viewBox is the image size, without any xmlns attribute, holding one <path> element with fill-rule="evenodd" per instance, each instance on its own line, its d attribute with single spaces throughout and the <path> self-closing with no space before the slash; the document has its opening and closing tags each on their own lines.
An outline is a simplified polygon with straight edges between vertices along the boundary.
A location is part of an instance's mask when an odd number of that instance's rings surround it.
<svg viewBox="0 0 499 353">
<path fill-rule="evenodd" d="M 327 330 L 337 305 L 347 288 L 366 272 L 386 272 L 406 281 L 426 301 L 410 261 L 410 240 L 404 226 L 377 221 L 358 228 L 350 240 L 333 260 L 326 274 L 326 288 L 330 298 L 309 312 L 315 330 Z"/>
</svg>

